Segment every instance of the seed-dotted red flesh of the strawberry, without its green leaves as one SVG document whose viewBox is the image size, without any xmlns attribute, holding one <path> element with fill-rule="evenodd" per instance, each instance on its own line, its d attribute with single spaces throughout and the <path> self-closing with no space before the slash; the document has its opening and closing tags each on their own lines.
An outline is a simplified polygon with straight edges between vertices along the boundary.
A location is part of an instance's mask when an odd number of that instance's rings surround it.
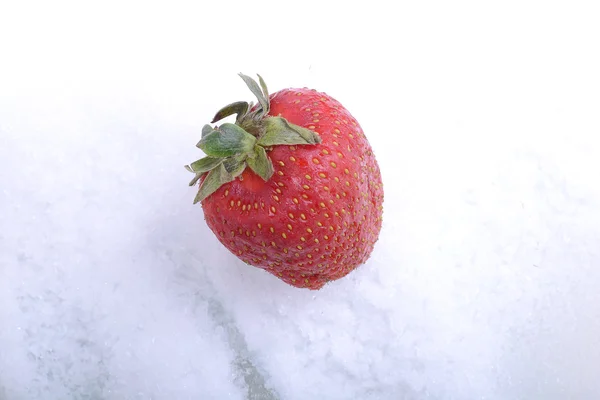
<svg viewBox="0 0 600 400">
<path fill-rule="evenodd" d="M 360 125 L 335 99 L 309 89 L 270 99 L 270 115 L 315 130 L 322 143 L 275 146 L 273 177 L 264 182 L 247 168 L 241 181 L 202 202 L 205 219 L 241 260 L 292 286 L 320 289 L 373 250 L 383 212 L 379 166 Z"/>
</svg>

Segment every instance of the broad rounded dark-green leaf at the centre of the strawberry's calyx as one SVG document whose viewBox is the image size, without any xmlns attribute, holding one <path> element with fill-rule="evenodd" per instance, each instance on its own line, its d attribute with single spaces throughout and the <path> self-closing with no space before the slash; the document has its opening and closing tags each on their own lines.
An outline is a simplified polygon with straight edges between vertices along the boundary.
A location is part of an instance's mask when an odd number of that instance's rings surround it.
<svg viewBox="0 0 600 400">
<path fill-rule="evenodd" d="M 210 157 L 229 157 L 248 153 L 254 148 L 256 138 L 235 124 L 225 123 L 218 130 L 204 136 L 198 147 Z"/>
</svg>

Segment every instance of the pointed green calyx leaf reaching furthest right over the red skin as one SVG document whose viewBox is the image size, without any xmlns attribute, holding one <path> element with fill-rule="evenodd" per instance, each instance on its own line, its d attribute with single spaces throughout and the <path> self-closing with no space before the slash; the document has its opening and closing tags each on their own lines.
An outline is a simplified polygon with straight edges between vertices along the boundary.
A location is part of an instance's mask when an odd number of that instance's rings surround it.
<svg viewBox="0 0 600 400">
<path fill-rule="evenodd" d="M 284 118 L 269 117 L 263 123 L 265 132 L 258 139 L 261 146 L 321 143 L 321 137 L 316 132 L 291 124 Z"/>
</svg>

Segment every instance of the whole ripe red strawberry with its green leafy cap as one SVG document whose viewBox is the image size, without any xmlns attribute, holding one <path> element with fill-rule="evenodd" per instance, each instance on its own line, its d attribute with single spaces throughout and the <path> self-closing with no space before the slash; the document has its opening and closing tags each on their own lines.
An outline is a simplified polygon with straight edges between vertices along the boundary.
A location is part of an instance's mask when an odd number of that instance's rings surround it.
<svg viewBox="0 0 600 400">
<path fill-rule="evenodd" d="M 381 230 L 379 166 L 360 125 L 335 99 L 267 86 L 240 74 L 258 99 L 205 125 L 206 157 L 187 165 L 194 203 L 230 252 L 284 282 L 317 290 L 371 255 Z"/>
</svg>

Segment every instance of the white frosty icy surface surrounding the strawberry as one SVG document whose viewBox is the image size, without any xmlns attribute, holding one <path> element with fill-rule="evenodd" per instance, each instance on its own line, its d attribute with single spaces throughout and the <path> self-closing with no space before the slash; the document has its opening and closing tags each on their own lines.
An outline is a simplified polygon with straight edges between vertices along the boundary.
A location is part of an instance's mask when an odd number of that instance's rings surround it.
<svg viewBox="0 0 600 400">
<path fill-rule="evenodd" d="M 0 3 L 1 400 L 600 398 L 595 2 L 82 3 Z M 376 250 L 319 292 L 192 205 L 238 72 L 380 162 Z"/>
</svg>

